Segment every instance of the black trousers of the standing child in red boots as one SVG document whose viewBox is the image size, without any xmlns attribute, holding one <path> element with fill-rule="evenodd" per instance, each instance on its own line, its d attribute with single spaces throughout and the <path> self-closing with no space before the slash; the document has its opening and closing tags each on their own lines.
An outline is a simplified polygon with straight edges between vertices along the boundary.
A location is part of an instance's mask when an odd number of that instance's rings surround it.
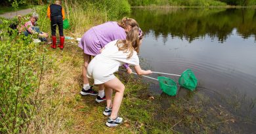
<svg viewBox="0 0 256 134">
<path fill-rule="evenodd" d="M 60 33 L 60 37 L 63 37 L 63 20 L 62 16 L 53 16 L 51 17 L 51 30 L 52 36 L 56 36 L 56 26 L 58 25 L 58 32 Z"/>
</svg>

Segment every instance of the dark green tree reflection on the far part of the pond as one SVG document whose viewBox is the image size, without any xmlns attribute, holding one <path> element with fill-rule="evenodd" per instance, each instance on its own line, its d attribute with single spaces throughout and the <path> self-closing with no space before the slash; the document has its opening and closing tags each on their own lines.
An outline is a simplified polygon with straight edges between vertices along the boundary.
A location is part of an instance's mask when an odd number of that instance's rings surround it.
<svg viewBox="0 0 256 134">
<path fill-rule="evenodd" d="M 192 42 L 209 36 L 224 42 L 236 28 L 238 35 L 256 40 L 255 9 L 234 8 L 134 8 L 136 18 L 146 33 L 154 31 L 154 37 L 179 37 Z"/>
</svg>

